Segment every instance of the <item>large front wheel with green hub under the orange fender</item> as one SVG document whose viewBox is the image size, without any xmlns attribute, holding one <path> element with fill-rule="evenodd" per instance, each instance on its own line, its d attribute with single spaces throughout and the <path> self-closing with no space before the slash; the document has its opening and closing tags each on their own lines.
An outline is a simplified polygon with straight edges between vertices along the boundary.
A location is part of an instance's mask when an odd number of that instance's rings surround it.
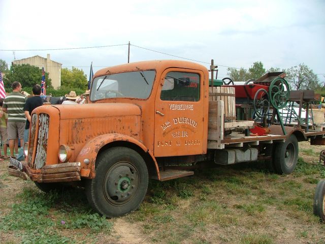
<svg viewBox="0 0 325 244">
<path fill-rule="evenodd" d="M 148 169 L 143 158 L 126 147 L 105 150 L 96 159 L 96 176 L 86 181 L 90 205 L 106 217 L 136 210 L 148 188 Z"/>
</svg>

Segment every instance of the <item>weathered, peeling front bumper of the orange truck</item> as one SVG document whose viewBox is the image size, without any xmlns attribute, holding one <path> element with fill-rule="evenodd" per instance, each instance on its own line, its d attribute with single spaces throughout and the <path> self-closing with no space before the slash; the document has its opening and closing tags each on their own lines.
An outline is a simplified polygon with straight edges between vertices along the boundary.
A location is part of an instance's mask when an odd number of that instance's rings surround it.
<svg viewBox="0 0 325 244">
<path fill-rule="evenodd" d="M 8 173 L 11 176 L 24 180 L 31 179 L 40 183 L 78 181 L 81 180 L 81 164 L 74 162 L 45 165 L 42 169 L 35 170 L 26 163 L 10 158 Z"/>
</svg>

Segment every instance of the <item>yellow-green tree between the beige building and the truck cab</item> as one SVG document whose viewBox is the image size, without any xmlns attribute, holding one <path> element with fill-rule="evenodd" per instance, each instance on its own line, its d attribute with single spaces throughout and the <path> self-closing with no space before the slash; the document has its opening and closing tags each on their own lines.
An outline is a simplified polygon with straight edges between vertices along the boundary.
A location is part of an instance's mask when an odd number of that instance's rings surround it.
<svg viewBox="0 0 325 244">
<path fill-rule="evenodd" d="M 83 70 L 79 70 L 72 67 L 72 70 L 68 68 L 61 69 L 61 86 L 69 88 L 87 88 L 87 76 L 83 73 Z"/>
</svg>

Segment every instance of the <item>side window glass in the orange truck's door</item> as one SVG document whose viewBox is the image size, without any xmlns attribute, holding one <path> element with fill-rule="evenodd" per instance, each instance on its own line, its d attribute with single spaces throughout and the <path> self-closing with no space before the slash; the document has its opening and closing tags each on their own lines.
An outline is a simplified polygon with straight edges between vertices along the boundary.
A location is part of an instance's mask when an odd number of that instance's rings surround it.
<svg viewBox="0 0 325 244">
<path fill-rule="evenodd" d="M 165 77 L 160 99 L 163 101 L 199 101 L 200 75 L 185 72 L 169 72 Z"/>
</svg>

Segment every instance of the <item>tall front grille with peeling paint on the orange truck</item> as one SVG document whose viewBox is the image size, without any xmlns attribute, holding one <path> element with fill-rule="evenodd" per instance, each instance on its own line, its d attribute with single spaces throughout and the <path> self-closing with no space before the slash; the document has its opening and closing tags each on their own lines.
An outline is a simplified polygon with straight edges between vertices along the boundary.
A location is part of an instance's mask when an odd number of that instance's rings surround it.
<svg viewBox="0 0 325 244">
<path fill-rule="evenodd" d="M 49 135 L 48 114 L 34 113 L 31 117 L 29 135 L 28 164 L 33 169 L 41 169 L 46 163 L 47 141 Z M 36 156 L 33 157 L 36 147 Z M 35 159 L 35 160 L 34 160 Z M 33 161 L 34 160 L 34 161 Z"/>
</svg>

